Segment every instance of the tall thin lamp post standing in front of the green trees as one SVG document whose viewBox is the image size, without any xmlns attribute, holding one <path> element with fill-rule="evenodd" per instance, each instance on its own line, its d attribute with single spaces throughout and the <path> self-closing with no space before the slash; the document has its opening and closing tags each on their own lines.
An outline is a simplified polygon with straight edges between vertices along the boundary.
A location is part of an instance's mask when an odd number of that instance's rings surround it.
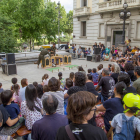
<svg viewBox="0 0 140 140">
<path fill-rule="evenodd" d="M 58 1 L 57 3 L 57 7 L 55 7 L 55 9 L 58 9 L 58 48 L 60 46 L 60 18 L 61 18 L 61 15 L 60 15 L 60 1 Z"/>
</svg>

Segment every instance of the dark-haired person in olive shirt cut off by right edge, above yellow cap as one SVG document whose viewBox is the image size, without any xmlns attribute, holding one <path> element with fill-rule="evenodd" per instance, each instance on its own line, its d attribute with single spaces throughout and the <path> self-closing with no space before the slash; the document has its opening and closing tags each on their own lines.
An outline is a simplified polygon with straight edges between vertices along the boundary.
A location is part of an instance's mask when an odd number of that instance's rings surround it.
<svg viewBox="0 0 140 140">
<path fill-rule="evenodd" d="M 133 87 L 136 89 L 137 94 L 140 95 L 140 66 L 135 67 L 134 74 L 137 77 L 137 80 L 133 83 Z"/>
</svg>

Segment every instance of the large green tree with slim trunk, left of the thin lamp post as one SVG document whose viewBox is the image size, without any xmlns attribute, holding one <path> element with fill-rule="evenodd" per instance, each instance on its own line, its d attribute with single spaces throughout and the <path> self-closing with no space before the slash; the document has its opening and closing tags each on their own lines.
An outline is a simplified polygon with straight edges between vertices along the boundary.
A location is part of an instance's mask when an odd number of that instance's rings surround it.
<svg viewBox="0 0 140 140">
<path fill-rule="evenodd" d="M 22 38 L 30 40 L 30 51 L 34 39 L 39 40 L 43 32 L 43 9 L 43 0 L 22 0 L 17 10 L 17 26 L 21 30 Z"/>
</svg>

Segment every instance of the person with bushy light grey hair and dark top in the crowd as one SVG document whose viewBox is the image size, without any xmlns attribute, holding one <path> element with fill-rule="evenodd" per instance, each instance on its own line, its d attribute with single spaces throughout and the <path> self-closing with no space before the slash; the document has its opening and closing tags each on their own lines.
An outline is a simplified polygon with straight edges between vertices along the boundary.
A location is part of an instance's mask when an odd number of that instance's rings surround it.
<svg viewBox="0 0 140 140">
<path fill-rule="evenodd" d="M 116 84 L 118 82 L 118 75 L 120 73 L 119 65 L 117 63 L 112 64 L 111 71 L 112 71 L 111 77 L 115 80 Z"/>
</svg>

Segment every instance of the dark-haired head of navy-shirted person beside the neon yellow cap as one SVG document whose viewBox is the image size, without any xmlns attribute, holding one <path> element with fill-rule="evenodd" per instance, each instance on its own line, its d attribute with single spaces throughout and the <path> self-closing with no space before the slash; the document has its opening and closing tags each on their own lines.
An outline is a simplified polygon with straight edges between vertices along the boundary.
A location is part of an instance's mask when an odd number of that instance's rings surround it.
<svg viewBox="0 0 140 140">
<path fill-rule="evenodd" d="M 118 82 L 114 88 L 115 95 L 119 94 L 121 96 L 121 99 L 123 99 L 123 96 L 127 94 L 126 88 L 127 86 L 124 82 Z"/>
</svg>

